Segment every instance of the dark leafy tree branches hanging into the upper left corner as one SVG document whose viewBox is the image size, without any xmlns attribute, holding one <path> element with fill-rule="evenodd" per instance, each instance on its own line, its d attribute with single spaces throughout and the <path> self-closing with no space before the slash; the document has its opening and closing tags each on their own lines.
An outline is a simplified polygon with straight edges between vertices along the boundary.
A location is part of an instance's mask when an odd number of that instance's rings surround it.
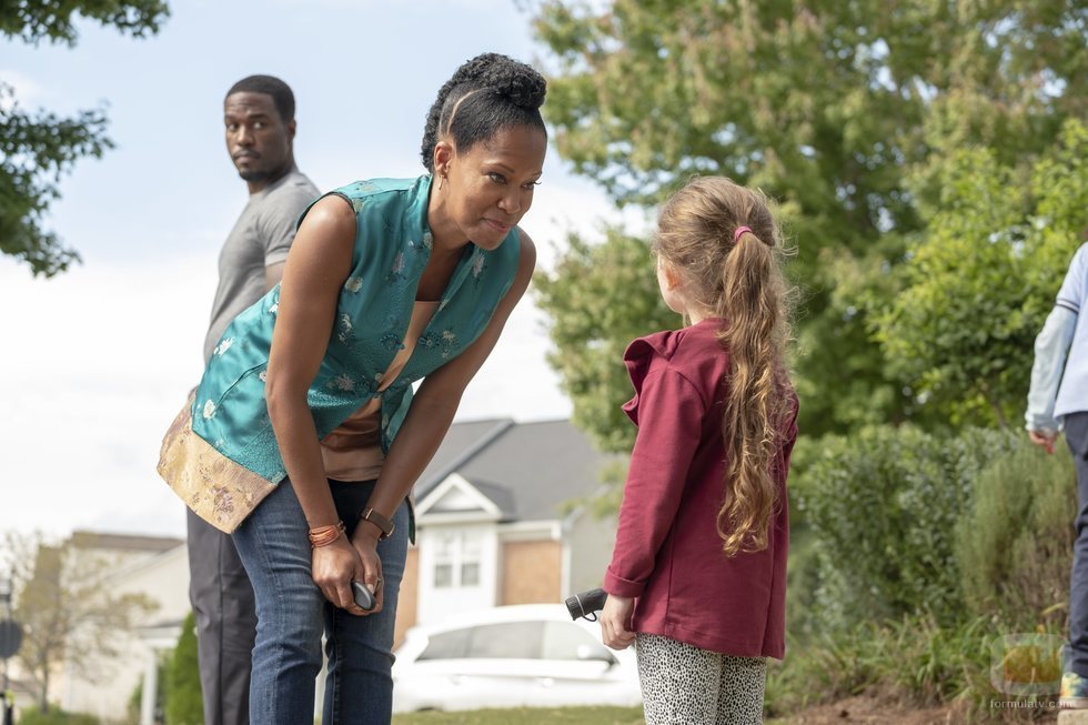
<svg viewBox="0 0 1088 725">
<path fill-rule="evenodd" d="M 82 16 L 142 38 L 158 32 L 168 16 L 162 0 L 14 0 L 0 8 L 0 33 L 38 44 L 74 46 L 74 18 Z M 101 158 L 113 147 L 101 109 L 70 118 L 19 107 L 0 83 L 0 253 L 26 262 L 32 274 L 52 276 L 79 261 L 79 253 L 43 229 L 58 184 L 81 158 Z"/>
</svg>

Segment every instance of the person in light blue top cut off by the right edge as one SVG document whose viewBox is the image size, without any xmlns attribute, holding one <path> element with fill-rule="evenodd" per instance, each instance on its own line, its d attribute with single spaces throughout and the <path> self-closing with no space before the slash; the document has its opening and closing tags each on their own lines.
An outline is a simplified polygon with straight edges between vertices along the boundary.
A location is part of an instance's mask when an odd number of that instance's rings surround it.
<svg viewBox="0 0 1088 725">
<path fill-rule="evenodd" d="M 1077 470 L 1077 540 L 1069 591 L 1069 661 L 1061 676 L 1062 707 L 1088 708 L 1088 244 L 1069 264 L 1054 310 L 1035 341 L 1028 393 L 1031 442 L 1054 451 L 1059 427 Z M 1069 360 L 1066 361 L 1068 353 Z M 1059 387 L 1060 382 L 1060 387 Z"/>
</svg>

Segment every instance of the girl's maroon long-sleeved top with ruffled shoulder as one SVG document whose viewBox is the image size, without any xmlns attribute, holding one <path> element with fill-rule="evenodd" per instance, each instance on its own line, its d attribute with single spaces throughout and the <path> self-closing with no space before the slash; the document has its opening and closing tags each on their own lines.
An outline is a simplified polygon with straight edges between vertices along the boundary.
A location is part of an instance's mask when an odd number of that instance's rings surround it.
<svg viewBox="0 0 1088 725">
<path fill-rule="evenodd" d="M 787 507 L 779 506 L 768 545 L 759 552 L 727 556 L 716 527 L 729 371 L 717 341 L 723 326 L 709 318 L 635 340 L 624 354 L 636 391 L 624 410 L 638 425 L 619 514 L 619 527 L 631 535 L 617 542 L 605 590 L 638 597 L 632 618 L 636 632 L 733 655 L 782 658 Z M 797 435 L 796 399 L 792 389 L 784 394 L 792 414 L 774 472 L 782 502 Z"/>
</svg>

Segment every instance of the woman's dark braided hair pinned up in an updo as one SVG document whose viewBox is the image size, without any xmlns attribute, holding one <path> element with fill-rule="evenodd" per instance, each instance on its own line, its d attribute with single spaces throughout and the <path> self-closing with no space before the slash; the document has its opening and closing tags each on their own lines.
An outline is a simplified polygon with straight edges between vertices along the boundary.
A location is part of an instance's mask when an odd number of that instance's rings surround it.
<svg viewBox="0 0 1088 725">
<path fill-rule="evenodd" d="M 476 56 L 439 90 L 423 131 L 423 165 L 434 172 L 434 147 L 451 137 L 459 153 L 498 131 L 528 125 L 547 135 L 540 108 L 547 82 L 531 66 L 501 56 Z"/>
</svg>

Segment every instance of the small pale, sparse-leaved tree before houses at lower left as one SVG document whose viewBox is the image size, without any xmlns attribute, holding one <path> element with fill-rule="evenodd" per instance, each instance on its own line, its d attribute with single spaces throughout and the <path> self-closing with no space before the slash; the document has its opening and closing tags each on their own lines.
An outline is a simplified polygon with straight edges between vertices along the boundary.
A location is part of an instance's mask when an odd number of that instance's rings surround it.
<svg viewBox="0 0 1088 725">
<path fill-rule="evenodd" d="M 2 555 L 13 578 L 13 618 L 23 626 L 17 656 L 37 688 L 39 711 L 47 713 L 51 677 L 61 663 L 91 682 L 104 676 L 95 663 L 117 656 L 119 633 L 155 605 L 140 594 L 112 592 L 104 581 L 115 562 L 75 540 L 53 543 L 10 532 Z"/>
</svg>

